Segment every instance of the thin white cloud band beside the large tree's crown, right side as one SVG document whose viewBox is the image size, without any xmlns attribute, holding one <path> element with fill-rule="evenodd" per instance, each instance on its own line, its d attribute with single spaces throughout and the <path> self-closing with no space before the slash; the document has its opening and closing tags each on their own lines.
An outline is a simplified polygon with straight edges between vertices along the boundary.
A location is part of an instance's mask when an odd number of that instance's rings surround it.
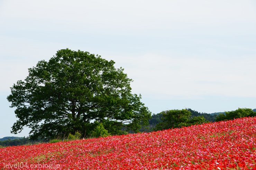
<svg viewBox="0 0 256 170">
<path fill-rule="evenodd" d="M 255 97 L 256 59 L 236 60 L 177 58 L 146 54 L 122 57 L 119 64 L 134 79 L 135 92 L 158 98 L 198 98 L 202 96 Z M 135 62 L 136 61 L 136 62 Z"/>
</svg>

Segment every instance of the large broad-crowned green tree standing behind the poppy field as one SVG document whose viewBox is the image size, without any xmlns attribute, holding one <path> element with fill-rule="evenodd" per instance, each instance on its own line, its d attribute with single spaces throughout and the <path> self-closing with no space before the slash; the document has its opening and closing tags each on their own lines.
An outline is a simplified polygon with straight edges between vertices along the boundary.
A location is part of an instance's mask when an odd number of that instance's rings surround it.
<svg viewBox="0 0 256 170">
<path fill-rule="evenodd" d="M 132 79 L 114 63 L 70 49 L 57 51 L 48 62 L 39 61 L 7 97 L 18 118 L 11 132 L 26 126 L 36 139 L 75 131 L 85 136 L 94 121 L 133 131 L 146 125 L 151 113 L 141 96 L 131 93 Z"/>
</svg>

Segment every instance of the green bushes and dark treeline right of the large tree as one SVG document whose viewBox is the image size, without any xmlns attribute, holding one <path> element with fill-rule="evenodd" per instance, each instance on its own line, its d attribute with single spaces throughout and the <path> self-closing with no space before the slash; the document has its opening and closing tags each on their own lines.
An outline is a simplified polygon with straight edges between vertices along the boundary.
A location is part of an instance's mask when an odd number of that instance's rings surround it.
<svg viewBox="0 0 256 170">
<path fill-rule="evenodd" d="M 231 120 L 242 117 L 256 116 L 256 109 L 238 108 L 235 111 L 224 113 L 200 113 L 192 109 L 166 110 L 158 114 L 153 114 L 149 119 L 149 126 L 142 128 L 141 131 L 156 131 L 170 128 L 181 128 L 194 124 L 202 124 L 214 121 Z"/>
</svg>

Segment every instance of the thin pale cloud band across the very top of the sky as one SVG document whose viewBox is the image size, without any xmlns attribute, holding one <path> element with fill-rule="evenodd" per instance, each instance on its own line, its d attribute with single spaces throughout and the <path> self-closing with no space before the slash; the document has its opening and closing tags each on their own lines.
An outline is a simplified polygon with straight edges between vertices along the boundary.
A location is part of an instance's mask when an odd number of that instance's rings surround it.
<svg viewBox="0 0 256 170">
<path fill-rule="evenodd" d="M 136 30 L 140 33 L 154 29 L 180 29 L 183 27 L 225 26 L 233 23 L 256 22 L 253 1 L 228 0 L 174 0 L 174 1 L 17 1 L 3 3 L 0 17 L 5 22 L 33 21 L 35 29 L 40 23 L 56 24 L 63 29 L 91 29 L 94 31 Z M 38 27 L 36 26 L 38 25 Z M 64 27 L 65 26 L 65 27 Z M 73 26 L 73 27 L 72 27 Z M 23 24 L 22 27 L 26 27 Z M 33 29 L 30 28 L 30 29 Z M 57 29 L 57 28 L 56 28 Z"/>
</svg>

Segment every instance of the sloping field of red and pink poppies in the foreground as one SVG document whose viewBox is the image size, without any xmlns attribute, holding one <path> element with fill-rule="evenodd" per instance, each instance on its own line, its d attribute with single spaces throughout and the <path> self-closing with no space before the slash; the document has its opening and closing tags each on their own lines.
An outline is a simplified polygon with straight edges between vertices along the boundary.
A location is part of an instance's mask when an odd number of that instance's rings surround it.
<svg viewBox="0 0 256 170">
<path fill-rule="evenodd" d="M 0 148 L 0 169 L 256 170 L 256 117 L 151 133 Z"/>
</svg>

